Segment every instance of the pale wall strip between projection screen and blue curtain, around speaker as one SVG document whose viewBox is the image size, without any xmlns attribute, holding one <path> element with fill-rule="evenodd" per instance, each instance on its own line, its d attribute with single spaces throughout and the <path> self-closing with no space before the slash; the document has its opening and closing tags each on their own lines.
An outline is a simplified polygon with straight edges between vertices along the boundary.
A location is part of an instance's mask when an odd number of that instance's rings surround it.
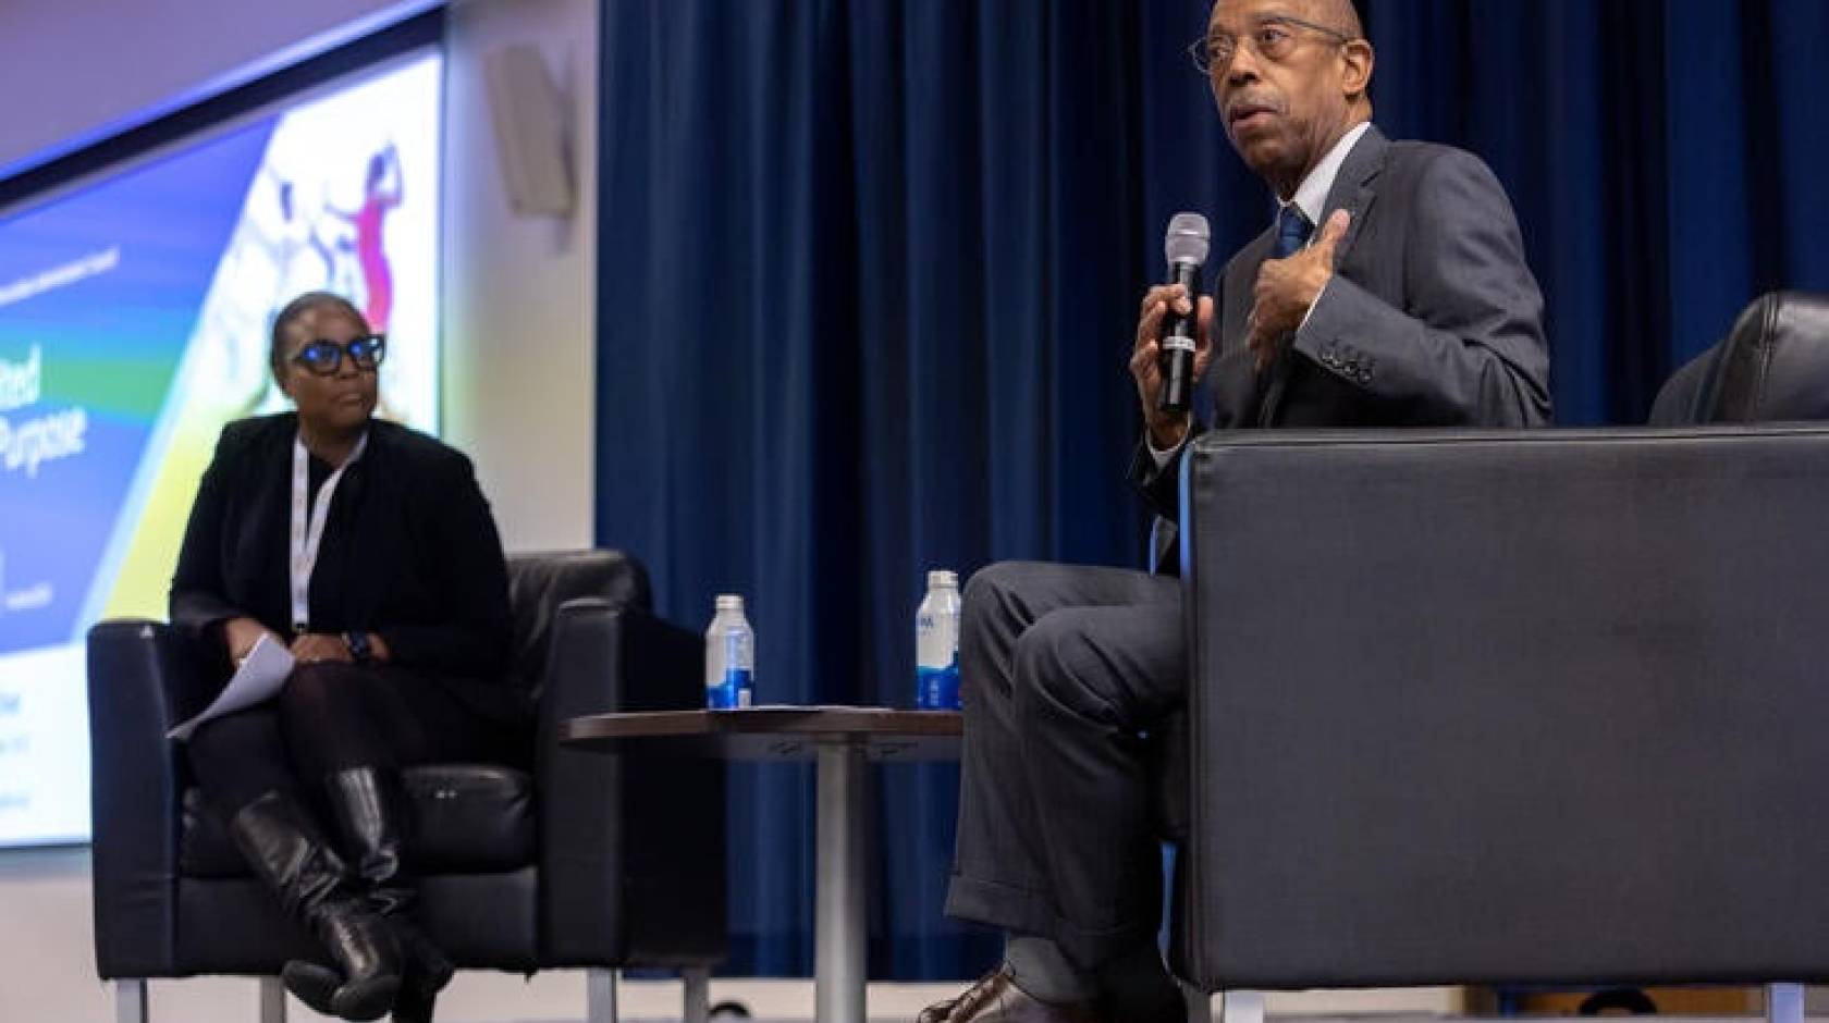
<svg viewBox="0 0 1829 1023">
<path fill-rule="evenodd" d="M 508 550 L 589 546 L 596 417 L 596 0 L 450 7 L 444 435 L 477 462 Z M 483 91 L 497 46 L 540 44 L 567 97 L 576 210 L 508 210 Z"/>
</svg>

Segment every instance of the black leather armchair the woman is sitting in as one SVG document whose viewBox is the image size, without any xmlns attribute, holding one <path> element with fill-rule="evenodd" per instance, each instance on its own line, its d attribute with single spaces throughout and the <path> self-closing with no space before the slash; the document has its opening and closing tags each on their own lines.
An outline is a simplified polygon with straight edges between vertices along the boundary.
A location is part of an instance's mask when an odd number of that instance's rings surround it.
<svg viewBox="0 0 1829 1023">
<path fill-rule="evenodd" d="M 459 968 L 587 970 L 589 1019 L 615 1019 L 615 970 L 679 968 L 704 1019 L 724 954 L 724 775 L 558 745 L 602 711 L 702 703 L 702 641 L 649 612 L 647 575 L 616 552 L 508 563 L 518 678 L 534 687 L 530 765 L 404 771 L 406 859 L 421 919 Z M 283 1018 L 283 961 L 318 955 L 247 871 L 190 787 L 166 729 L 210 694 L 165 625 L 90 632 L 95 965 L 121 1019 L 146 1018 L 148 977 L 262 977 L 262 1019 Z"/>
</svg>

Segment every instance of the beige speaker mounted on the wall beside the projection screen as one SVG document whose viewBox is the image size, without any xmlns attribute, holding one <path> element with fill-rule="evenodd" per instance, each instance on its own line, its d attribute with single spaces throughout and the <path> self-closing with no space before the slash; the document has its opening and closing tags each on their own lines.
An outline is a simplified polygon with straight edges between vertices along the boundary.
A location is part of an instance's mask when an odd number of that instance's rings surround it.
<svg viewBox="0 0 1829 1023">
<path fill-rule="evenodd" d="M 512 44 L 488 53 L 488 115 L 508 206 L 523 217 L 572 212 L 567 108 L 538 46 Z"/>
</svg>

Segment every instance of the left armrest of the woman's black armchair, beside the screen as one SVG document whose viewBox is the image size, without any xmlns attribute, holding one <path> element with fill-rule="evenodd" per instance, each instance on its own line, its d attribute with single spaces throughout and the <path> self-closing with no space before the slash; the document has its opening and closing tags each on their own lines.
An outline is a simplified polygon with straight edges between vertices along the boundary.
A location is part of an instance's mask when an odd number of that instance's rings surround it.
<svg viewBox="0 0 1829 1023">
<path fill-rule="evenodd" d="M 190 647 L 154 621 L 90 628 L 95 966 L 104 979 L 174 972 L 181 767 L 165 733 L 203 705 Z"/>
</svg>

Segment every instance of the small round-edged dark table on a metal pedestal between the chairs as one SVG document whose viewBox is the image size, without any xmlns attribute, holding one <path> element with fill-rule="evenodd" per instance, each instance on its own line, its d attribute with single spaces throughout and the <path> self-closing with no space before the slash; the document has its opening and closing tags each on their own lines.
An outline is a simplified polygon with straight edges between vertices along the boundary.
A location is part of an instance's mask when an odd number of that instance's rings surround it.
<svg viewBox="0 0 1829 1023">
<path fill-rule="evenodd" d="M 587 749 L 666 749 L 722 760 L 818 760 L 814 1018 L 865 1023 L 865 764 L 957 760 L 957 711 L 885 707 L 746 707 L 587 714 L 560 738 Z"/>
</svg>

